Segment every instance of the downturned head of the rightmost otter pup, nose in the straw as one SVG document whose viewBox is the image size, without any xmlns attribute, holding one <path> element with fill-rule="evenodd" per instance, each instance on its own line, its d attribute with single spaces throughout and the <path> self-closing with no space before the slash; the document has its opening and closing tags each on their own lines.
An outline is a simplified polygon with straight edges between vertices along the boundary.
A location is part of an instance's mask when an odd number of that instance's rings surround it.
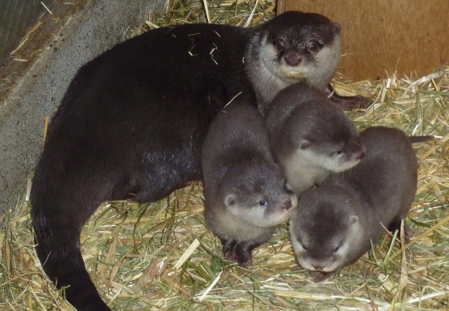
<svg viewBox="0 0 449 311">
<path fill-rule="evenodd" d="M 293 251 L 307 270 L 339 270 L 354 260 L 354 248 L 360 246 L 363 229 L 351 209 L 354 199 L 330 188 L 304 192 L 290 218 Z"/>
</svg>

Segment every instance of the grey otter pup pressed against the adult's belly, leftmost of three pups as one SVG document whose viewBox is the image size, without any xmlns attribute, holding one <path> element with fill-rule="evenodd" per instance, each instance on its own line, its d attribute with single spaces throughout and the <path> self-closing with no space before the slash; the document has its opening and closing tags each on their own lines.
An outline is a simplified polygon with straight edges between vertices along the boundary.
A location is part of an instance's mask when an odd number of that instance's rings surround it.
<svg viewBox="0 0 449 311">
<path fill-rule="evenodd" d="M 232 103 L 218 114 L 204 140 L 202 163 L 206 224 L 225 256 L 248 267 L 251 251 L 272 237 L 297 204 L 255 107 Z"/>
</svg>

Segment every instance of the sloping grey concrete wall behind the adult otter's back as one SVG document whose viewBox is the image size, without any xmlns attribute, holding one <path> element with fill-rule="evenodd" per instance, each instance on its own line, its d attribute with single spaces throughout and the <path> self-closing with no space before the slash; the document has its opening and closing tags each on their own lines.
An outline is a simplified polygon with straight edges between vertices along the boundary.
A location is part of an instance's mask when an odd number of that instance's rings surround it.
<svg viewBox="0 0 449 311">
<path fill-rule="evenodd" d="M 18 81 L 0 107 L 0 216 L 14 206 L 13 190 L 32 173 L 41 152 L 45 117 L 53 116 L 79 67 L 123 41 L 128 27 L 147 20 L 149 11 L 161 11 L 165 2 L 87 0 L 62 26 L 52 48 Z"/>
</svg>

